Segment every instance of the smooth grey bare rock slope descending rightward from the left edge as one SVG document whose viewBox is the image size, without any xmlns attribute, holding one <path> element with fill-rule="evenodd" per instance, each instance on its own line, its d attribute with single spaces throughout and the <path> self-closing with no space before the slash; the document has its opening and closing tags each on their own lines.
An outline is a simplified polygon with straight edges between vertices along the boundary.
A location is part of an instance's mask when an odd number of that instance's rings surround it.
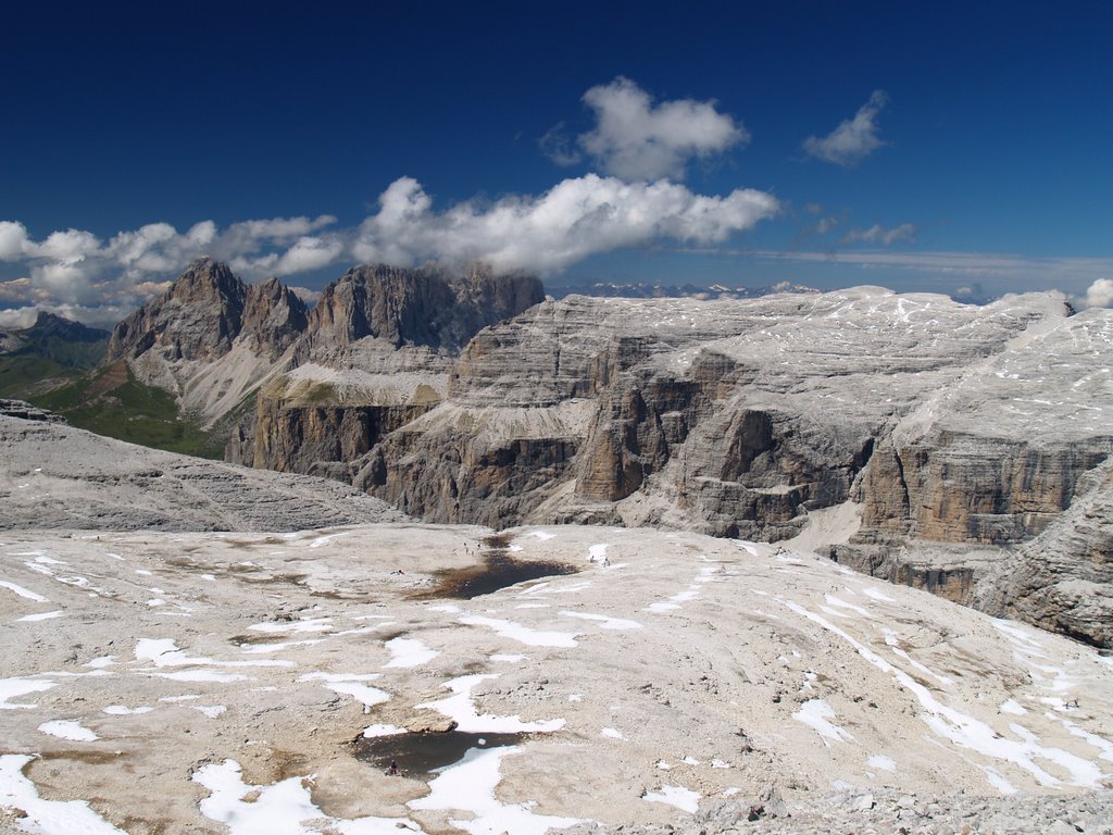
<svg viewBox="0 0 1113 835">
<path fill-rule="evenodd" d="M 0 404 L 0 529 L 292 531 L 405 514 L 335 481 L 124 443 Z"/>
</svg>

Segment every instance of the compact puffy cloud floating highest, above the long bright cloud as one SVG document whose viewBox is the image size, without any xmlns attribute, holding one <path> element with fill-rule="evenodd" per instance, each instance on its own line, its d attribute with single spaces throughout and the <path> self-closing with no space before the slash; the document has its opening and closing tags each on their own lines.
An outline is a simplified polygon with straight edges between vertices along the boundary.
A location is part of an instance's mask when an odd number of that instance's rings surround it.
<svg viewBox="0 0 1113 835">
<path fill-rule="evenodd" d="M 583 100 L 595 111 L 595 127 L 580 135 L 580 147 L 603 171 L 626 180 L 680 180 L 689 158 L 749 141 L 746 128 L 716 110 L 715 101 L 677 99 L 654 106 L 648 92 L 621 76 L 592 87 Z M 573 158 L 567 150 L 563 156 Z"/>
</svg>

